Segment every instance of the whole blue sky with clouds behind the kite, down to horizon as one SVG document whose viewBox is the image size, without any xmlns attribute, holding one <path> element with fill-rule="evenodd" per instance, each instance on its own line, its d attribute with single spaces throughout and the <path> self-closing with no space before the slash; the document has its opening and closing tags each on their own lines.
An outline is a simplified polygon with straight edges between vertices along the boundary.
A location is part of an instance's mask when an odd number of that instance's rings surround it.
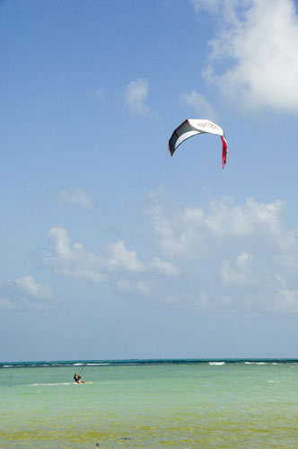
<svg viewBox="0 0 298 449">
<path fill-rule="evenodd" d="M 0 360 L 298 357 L 298 2 L 0 0 L 0 42 Z"/>
</svg>

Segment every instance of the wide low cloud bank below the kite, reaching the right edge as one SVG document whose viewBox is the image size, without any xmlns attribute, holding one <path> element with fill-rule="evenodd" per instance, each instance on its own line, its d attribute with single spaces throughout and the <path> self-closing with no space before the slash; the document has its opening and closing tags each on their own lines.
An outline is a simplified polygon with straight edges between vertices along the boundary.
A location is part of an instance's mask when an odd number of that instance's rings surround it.
<svg viewBox="0 0 298 449">
<path fill-rule="evenodd" d="M 146 210 L 155 237 L 146 258 L 123 240 L 87 250 L 58 226 L 45 261 L 59 275 L 110 283 L 123 295 L 223 314 L 241 307 L 289 313 L 296 310 L 298 231 L 286 227 L 284 212 L 280 200 L 169 207 L 155 197 Z"/>
</svg>

